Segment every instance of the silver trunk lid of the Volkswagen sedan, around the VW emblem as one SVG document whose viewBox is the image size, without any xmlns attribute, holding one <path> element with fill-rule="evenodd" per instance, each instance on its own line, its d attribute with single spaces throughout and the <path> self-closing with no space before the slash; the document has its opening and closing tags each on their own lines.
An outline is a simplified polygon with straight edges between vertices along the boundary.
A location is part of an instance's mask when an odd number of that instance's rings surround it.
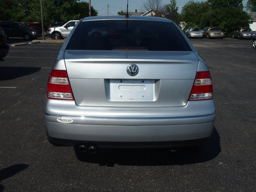
<svg viewBox="0 0 256 192">
<path fill-rule="evenodd" d="M 192 51 L 65 51 L 77 106 L 185 106 L 198 67 Z M 136 76 L 127 67 L 139 68 Z"/>
</svg>

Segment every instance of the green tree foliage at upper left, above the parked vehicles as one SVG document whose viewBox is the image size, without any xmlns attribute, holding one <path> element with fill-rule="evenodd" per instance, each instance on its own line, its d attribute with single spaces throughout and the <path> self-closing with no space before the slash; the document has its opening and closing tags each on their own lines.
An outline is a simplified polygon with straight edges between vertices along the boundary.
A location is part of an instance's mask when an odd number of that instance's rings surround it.
<svg viewBox="0 0 256 192">
<path fill-rule="evenodd" d="M 79 1 L 79 0 L 78 0 Z M 89 5 L 77 0 L 42 0 L 44 24 L 81 19 L 89 16 Z M 92 7 L 92 16 L 97 11 Z M 41 22 L 40 0 L 1 0 L 1 20 Z"/>
</svg>

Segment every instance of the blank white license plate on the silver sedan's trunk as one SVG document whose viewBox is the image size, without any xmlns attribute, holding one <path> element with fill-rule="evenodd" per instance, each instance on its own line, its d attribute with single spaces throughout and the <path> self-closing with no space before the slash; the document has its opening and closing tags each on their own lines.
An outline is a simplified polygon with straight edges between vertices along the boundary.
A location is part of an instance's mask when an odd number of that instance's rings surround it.
<svg viewBox="0 0 256 192">
<path fill-rule="evenodd" d="M 154 101 L 154 80 L 110 79 L 110 101 Z"/>
</svg>

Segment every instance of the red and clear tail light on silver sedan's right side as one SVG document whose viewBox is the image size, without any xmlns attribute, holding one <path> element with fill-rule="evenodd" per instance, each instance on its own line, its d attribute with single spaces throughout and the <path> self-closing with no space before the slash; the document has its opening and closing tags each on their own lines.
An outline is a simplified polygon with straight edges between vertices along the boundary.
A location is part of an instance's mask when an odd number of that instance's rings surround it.
<svg viewBox="0 0 256 192">
<path fill-rule="evenodd" d="M 209 71 L 196 72 L 189 100 L 209 99 L 213 99 L 211 74 Z"/>
</svg>

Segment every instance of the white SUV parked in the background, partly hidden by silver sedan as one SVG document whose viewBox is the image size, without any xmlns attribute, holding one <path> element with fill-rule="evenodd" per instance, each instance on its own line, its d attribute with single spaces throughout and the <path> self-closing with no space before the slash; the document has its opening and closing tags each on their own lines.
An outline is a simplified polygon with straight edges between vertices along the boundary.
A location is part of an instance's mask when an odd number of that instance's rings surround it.
<svg viewBox="0 0 256 192">
<path fill-rule="evenodd" d="M 77 22 L 79 22 L 79 20 L 70 20 L 63 26 L 55 26 L 49 28 L 48 36 L 51 36 L 51 38 L 53 39 L 65 38 L 69 35 L 70 31 L 72 31 L 74 26 L 76 26 Z"/>
</svg>

